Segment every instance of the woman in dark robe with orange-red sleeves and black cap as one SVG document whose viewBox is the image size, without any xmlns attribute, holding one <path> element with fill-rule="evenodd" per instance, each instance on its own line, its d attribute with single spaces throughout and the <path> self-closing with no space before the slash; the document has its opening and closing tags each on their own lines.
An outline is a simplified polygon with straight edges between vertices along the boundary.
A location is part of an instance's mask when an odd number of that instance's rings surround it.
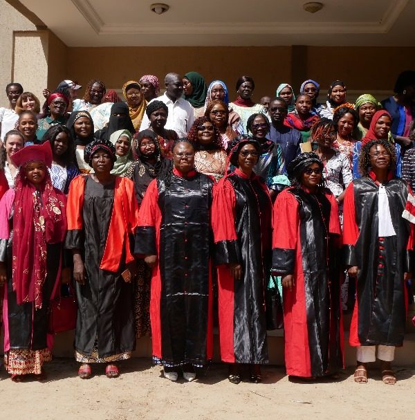
<svg viewBox="0 0 415 420">
<path fill-rule="evenodd" d="M 138 205 L 133 181 L 111 174 L 116 161 L 111 142 L 93 140 L 84 160 L 94 173 L 71 182 L 65 241 L 76 280 L 75 358 L 80 378 L 91 376 L 92 363 L 107 364 L 105 374 L 113 378 L 119 375 L 116 362 L 131 357 L 136 346 L 130 243 Z"/>
</svg>

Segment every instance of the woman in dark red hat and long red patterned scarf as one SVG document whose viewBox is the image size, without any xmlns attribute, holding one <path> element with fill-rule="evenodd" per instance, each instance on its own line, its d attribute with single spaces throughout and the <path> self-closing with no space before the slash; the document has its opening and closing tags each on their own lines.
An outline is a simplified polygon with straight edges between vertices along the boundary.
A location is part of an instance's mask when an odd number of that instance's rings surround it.
<svg viewBox="0 0 415 420">
<path fill-rule="evenodd" d="M 66 197 L 48 173 L 50 144 L 25 147 L 12 161 L 19 173 L 0 201 L 0 283 L 6 369 L 19 382 L 26 374 L 41 379 L 43 363 L 52 358 L 48 306 L 61 273 L 67 274 L 61 271 L 67 225 Z"/>
</svg>

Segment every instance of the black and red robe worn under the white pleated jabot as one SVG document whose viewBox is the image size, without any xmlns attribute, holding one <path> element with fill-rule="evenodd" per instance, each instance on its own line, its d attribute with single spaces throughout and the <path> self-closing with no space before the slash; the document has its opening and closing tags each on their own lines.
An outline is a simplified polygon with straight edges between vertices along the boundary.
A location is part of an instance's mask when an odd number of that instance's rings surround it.
<svg viewBox="0 0 415 420">
<path fill-rule="evenodd" d="M 378 235 L 379 184 L 372 177 L 349 185 L 343 206 L 344 262 L 358 266 L 350 345 L 403 345 L 407 293 L 403 275 L 412 271 L 414 225 L 403 219 L 408 187 L 391 179 L 385 186 L 396 236 Z"/>
</svg>

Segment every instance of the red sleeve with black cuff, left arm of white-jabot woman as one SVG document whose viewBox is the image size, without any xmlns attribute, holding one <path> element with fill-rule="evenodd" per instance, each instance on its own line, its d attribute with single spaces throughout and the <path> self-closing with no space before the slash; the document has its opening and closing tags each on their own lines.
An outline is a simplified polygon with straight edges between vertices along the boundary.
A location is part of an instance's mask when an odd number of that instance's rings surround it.
<svg viewBox="0 0 415 420">
<path fill-rule="evenodd" d="M 346 189 L 343 201 L 343 251 L 344 264 L 356 266 L 354 246 L 359 237 L 358 224 L 356 223 L 356 211 L 354 202 L 353 182 Z"/>
</svg>

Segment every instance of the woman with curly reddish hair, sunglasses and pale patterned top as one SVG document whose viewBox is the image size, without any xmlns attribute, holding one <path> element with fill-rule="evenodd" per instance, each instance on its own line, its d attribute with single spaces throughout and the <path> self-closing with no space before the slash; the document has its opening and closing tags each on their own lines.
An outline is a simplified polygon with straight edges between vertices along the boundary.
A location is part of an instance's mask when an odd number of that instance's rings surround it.
<svg viewBox="0 0 415 420">
<path fill-rule="evenodd" d="M 196 171 L 219 181 L 225 174 L 227 158 L 219 130 L 207 117 L 199 117 L 190 127 L 187 139 L 196 150 L 194 155 Z"/>
</svg>

